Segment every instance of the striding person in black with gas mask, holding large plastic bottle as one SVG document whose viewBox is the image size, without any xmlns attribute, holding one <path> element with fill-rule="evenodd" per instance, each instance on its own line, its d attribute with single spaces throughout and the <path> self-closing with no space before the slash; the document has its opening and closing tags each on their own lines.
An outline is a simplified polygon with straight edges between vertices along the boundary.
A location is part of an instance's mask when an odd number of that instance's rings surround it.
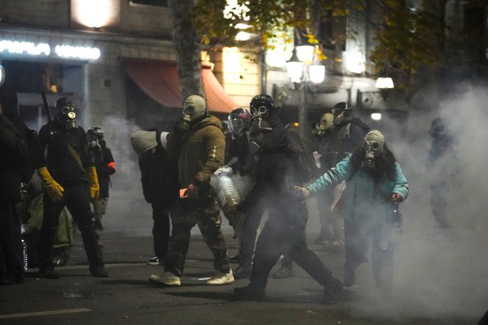
<svg viewBox="0 0 488 325">
<path fill-rule="evenodd" d="M 250 275 L 250 284 L 235 288 L 239 299 L 262 300 L 268 275 L 284 253 L 303 267 L 324 287 L 323 298 L 330 301 L 342 287 L 319 257 L 307 247 L 305 226 L 307 205 L 291 196 L 293 186 L 301 185 L 287 147 L 287 129 L 275 114 L 273 98 L 254 96 L 250 103 L 254 121 L 250 127 L 250 152 L 257 158 L 256 184 L 239 209 L 248 212 L 264 200 L 268 220 L 259 235 Z"/>
</svg>

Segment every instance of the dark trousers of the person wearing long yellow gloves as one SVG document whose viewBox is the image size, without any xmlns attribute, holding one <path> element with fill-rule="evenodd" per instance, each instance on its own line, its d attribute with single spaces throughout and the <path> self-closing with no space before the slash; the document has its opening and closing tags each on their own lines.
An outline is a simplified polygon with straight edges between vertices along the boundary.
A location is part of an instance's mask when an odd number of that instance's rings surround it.
<svg viewBox="0 0 488 325">
<path fill-rule="evenodd" d="M 82 233 L 83 245 L 90 269 L 103 267 L 102 251 L 93 227 L 90 207 L 90 190 L 85 182 L 70 184 L 64 187 L 63 198 L 54 202 L 47 193 L 44 195 L 44 218 L 39 238 L 39 269 L 40 271 L 52 269 L 52 243 L 59 225 L 59 214 L 64 207 L 75 219 Z"/>
</svg>

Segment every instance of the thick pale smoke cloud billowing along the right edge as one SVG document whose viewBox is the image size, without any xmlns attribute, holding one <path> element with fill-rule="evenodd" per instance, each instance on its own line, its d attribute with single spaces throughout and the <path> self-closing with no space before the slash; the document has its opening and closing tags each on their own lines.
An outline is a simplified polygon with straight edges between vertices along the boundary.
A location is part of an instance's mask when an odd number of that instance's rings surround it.
<svg viewBox="0 0 488 325">
<path fill-rule="evenodd" d="M 480 319 L 487 310 L 488 95 L 486 88 L 462 85 L 455 95 L 443 98 L 438 111 L 425 111 L 423 106 L 410 113 L 408 137 L 399 134 L 401 126 L 393 121 L 381 129 L 411 193 L 400 205 L 404 228 L 395 252 L 394 299 L 383 309 L 359 300 L 353 305 L 356 315 Z M 427 166 L 431 145 L 427 131 L 439 116 L 455 140 L 454 152 Z M 429 184 L 438 177 L 445 180 L 445 218 L 450 228 L 438 228 L 432 214 Z M 372 277 L 370 269 L 370 263 L 363 264 L 357 274 Z M 376 288 L 356 290 L 368 299 Z"/>
</svg>

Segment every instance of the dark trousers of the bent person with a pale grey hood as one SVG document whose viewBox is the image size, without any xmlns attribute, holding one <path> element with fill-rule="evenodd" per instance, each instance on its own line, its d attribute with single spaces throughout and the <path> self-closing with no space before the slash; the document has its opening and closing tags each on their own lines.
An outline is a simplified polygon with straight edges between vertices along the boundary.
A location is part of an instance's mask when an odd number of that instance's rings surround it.
<svg viewBox="0 0 488 325">
<path fill-rule="evenodd" d="M 169 218 L 171 209 L 159 201 L 151 203 L 153 207 L 153 244 L 154 254 L 160 261 L 165 260 L 169 243 Z"/>
</svg>

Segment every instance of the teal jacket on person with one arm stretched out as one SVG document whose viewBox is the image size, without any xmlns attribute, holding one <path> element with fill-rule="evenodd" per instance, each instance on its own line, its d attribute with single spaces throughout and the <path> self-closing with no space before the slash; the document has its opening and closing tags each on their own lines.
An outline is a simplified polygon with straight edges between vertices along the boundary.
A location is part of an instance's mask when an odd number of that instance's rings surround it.
<svg viewBox="0 0 488 325">
<path fill-rule="evenodd" d="M 392 194 L 399 193 L 404 200 L 409 196 L 409 183 L 397 162 L 395 169 L 395 180 L 384 177 L 378 187 L 369 173 L 362 169 L 354 171 L 349 154 L 335 167 L 314 180 L 307 189 L 314 195 L 319 191 L 329 191 L 345 180 L 346 189 L 342 193 L 344 221 L 360 225 L 381 224 L 385 216 L 392 211 Z"/>
</svg>

